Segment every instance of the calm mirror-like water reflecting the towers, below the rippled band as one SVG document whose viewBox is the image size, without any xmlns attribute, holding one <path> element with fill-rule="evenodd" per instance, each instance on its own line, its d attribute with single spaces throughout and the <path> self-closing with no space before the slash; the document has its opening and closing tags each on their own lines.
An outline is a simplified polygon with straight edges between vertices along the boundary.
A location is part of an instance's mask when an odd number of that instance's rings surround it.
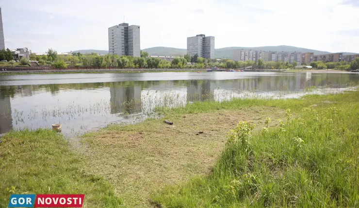
<svg viewBox="0 0 359 208">
<path fill-rule="evenodd" d="M 220 76 L 226 74 L 232 73 L 223 72 Z M 143 75 L 140 78 L 143 79 Z M 53 79 L 56 80 L 54 77 Z M 309 92 L 340 91 L 357 85 L 358 81 L 359 74 L 307 72 L 281 76 L 263 74 L 231 80 L 13 86 L 1 86 L 0 83 L 0 134 L 12 129 L 49 128 L 53 123 L 61 123 L 65 135 L 73 136 L 111 122 L 134 122 L 146 118 L 143 115 L 153 112 L 158 106 L 176 107 L 188 102 L 221 102 L 245 97 L 291 98 Z M 24 82 L 27 83 L 28 80 Z"/>
</svg>

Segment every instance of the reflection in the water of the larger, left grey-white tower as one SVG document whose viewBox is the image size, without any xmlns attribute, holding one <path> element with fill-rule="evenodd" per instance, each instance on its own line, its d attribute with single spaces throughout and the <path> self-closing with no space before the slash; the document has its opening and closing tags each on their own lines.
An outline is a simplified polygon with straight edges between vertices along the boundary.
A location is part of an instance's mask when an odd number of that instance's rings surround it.
<svg viewBox="0 0 359 208">
<path fill-rule="evenodd" d="M 121 112 L 133 114 L 142 111 L 141 87 L 112 84 L 110 86 L 111 114 Z"/>
</svg>

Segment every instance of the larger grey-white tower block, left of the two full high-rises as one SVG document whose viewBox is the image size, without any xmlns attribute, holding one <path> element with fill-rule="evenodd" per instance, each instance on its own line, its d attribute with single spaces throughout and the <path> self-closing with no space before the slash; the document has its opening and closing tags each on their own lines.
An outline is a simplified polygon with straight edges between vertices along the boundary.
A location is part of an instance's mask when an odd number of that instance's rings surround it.
<svg viewBox="0 0 359 208">
<path fill-rule="evenodd" d="M 108 32 L 110 54 L 141 56 L 139 25 L 121 23 L 110 27 Z"/>
</svg>

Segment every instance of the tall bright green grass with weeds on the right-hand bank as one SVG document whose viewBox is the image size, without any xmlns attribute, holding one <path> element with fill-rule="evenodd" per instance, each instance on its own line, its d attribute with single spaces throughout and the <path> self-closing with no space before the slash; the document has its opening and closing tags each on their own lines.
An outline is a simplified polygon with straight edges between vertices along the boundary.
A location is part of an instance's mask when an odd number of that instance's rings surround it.
<svg viewBox="0 0 359 208">
<path fill-rule="evenodd" d="M 235 103 L 275 105 L 292 112 L 283 116 L 283 125 L 252 135 L 250 123 L 240 124 L 211 173 L 153 193 L 154 205 L 359 206 L 359 92 Z M 235 103 L 194 104 L 174 111 L 201 112 L 204 105 L 214 110 Z"/>
</svg>

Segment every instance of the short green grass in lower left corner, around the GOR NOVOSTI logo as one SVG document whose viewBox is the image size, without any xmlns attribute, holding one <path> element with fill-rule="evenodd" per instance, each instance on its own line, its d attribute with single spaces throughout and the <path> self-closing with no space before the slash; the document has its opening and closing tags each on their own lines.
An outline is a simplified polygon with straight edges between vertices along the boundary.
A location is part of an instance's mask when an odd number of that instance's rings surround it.
<svg viewBox="0 0 359 208">
<path fill-rule="evenodd" d="M 85 194 L 85 207 L 119 207 L 113 187 L 84 169 L 84 159 L 50 130 L 16 131 L 0 138 L 0 207 L 10 194 Z"/>
</svg>

